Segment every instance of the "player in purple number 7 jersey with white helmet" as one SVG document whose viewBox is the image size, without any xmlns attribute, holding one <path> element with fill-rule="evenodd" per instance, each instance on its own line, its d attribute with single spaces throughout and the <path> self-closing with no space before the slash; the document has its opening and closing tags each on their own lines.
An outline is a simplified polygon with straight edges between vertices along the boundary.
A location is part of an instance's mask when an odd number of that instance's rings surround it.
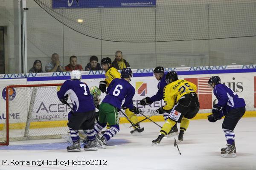
<svg viewBox="0 0 256 170">
<path fill-rule="evenodd" d="M 57 92 L 62 103 L 67 104 L 67 98 L 70 96 L 73 105 L 73 111 L 68 113 L 67 123 L 73 145 L 68 146 L 67 151 L 81 151 L 79 129 L 84 130 L 88 138 L 88 142 L 84 144 L 84 150 L 98 150 L 94 131 L 95 106 L 93 97 L 88 86 L 80 81 L 81 73 L 79 71 L 72 71 L 70 77 L 71 80 L 66 80 Z"/>
</svg>

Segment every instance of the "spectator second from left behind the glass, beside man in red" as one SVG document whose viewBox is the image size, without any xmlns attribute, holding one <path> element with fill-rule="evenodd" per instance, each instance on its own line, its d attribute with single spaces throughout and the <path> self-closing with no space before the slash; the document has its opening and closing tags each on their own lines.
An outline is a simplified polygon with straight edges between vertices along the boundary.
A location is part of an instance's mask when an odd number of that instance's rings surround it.
<svg viewBox="0 0 256 170">
<path fill-rule="evenodd" d="M 45 65 L 46 72 L 61 72 L 66 71 L 64 66 L 61 65 L 60 58 L 57 53 L 52 54 L 52 61 Z"/>
</svg>

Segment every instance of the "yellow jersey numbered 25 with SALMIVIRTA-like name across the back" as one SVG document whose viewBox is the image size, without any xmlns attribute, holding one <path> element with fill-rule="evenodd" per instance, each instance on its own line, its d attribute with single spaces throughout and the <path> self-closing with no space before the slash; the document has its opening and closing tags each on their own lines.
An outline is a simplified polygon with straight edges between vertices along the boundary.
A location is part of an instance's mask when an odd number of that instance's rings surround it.
<svg viewBox="0 0 256 170">
<path fill-rule="evenodd" d="M 175 82 L 171 82 L 163 88 L 163 100 L 165 102 L 164 110 L 170 110 L 177 104 L 180 97 L 190 92 L 196 92 L 197 87 L 192 82 L 177 79 Z"/>
</svg>

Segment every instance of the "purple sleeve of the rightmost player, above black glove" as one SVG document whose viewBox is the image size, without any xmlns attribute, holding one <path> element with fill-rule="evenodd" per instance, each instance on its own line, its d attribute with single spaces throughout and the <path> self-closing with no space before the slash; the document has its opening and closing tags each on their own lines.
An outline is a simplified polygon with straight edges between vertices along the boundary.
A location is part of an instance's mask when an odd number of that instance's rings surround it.
<svg viewBox="0 0 256 170">
<path fill-rule="evenodd" d="M 218 99 L 217 105 L 220 107 L 225 107 L 228 102 L 227 91 L 222 86 L 216 85 L 213 93 Z"/>
</svg>

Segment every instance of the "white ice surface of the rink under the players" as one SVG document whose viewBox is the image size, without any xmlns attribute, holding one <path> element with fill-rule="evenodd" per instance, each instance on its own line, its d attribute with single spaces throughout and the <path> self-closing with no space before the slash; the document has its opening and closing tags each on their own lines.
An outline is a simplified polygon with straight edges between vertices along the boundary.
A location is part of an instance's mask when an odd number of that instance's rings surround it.
<svg viewBox="0 0 256 170">
<path fill-rule="evenodd" d="M 220 155 L 226 144 L 222 120 L 211 123 L 200 119 L 190 122 L 184 141 L 178 144 L 181 155 L 174 147 L 173 136 L 151 146 L 160 130 L 153 123 L 141 124 L 145 128 L 141 136 L 132 136 L 128 124 L 121 124 L 120 132 L 107 142 L 108 148 L 97 151 L 67 152 L 69 144 L 64 139 L 10 142 L 0 147 L 0 170 L 256 170 L 255 122 L 256 118 L 242 118 L 234 130 L 236 158 Z M 45 161 L 44 165 L 39 166 L 38 160 Z M 12 165 L 3 165 L 11 161 Z M 19 161 L 34 164 L 18 165 Z"/>
</svg>

